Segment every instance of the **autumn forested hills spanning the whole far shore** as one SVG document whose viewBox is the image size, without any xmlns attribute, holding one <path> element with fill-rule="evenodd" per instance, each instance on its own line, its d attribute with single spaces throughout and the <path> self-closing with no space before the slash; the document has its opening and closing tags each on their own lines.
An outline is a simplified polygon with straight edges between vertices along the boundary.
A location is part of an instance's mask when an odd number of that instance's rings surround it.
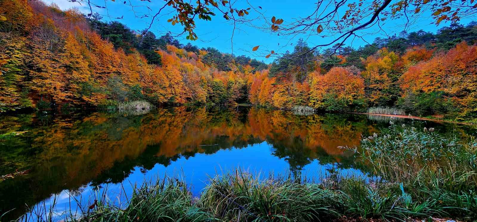
<svg viewBox="0 0 477 222">
<path fill-rule="evenodd" d="M 376 38 L 357 49 L 310 51 L 299 40 L 291 59 L 265 64 L 171 35 L 139 36 L 119 22 L 75 18 L 83 15 L 41 1 L 2 0 L 0 16 L 0 111 L 147 100 L 323 112 L 398 106 L 414 115 L 477 118 L 476 22 Z"/>
</svg>

